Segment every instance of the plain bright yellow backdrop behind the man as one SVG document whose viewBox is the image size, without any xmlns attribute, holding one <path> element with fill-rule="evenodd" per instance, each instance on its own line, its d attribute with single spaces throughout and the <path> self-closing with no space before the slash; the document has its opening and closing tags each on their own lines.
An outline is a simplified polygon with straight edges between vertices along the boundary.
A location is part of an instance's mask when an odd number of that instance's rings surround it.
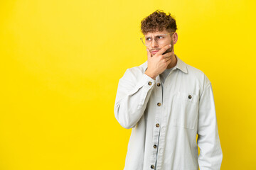
<svg viewBox="0 0 256 170">
<path fill-rule="evenodd" d="M 175 53 L 215 96 L 221 169 L 256 169 L 255 2 L 0 2 L 0 169 L 123 169 L 119 79 L 146 61 L 140 21 L 176 17 Z"/>
</svg>

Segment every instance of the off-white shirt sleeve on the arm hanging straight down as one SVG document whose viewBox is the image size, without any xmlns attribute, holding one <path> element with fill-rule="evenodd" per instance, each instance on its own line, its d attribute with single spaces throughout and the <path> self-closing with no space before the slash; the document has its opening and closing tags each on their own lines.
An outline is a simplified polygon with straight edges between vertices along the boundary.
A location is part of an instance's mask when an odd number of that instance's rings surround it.
<svg viewBox="0 0 256 170">
<path fill-rule="evenodd" d="M 207 77 L 206 77 L 206 80 Z M 210 81 L 205 84 L 198 112 L 198 164 L 201 170 L 219 170 L 223 159 L 218 135 L 213 89 Z"/>
</svg>

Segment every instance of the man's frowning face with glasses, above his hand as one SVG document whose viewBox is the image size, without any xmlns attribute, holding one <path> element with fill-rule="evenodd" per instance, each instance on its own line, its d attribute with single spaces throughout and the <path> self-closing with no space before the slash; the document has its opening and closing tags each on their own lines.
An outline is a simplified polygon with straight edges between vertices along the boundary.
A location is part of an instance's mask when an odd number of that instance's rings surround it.
<svg viewBox="0 0 256 170">
<path fill-rule="evenodd" d="M 147 48 L 149 48 L 149 50 L 151 52 L 151 55 L 155 55 L 156 52 L 161 50 L 162 47 L 164 47 L 166 45 L 169 45 L 169 44 L 171 44 L 171 47 L 168 50 L 166 50 L 166 52 L 171 52 L 172 50 L 174 50 L 174 38 L 173 38 L 173 36 L 174 36 L 175 33 L 172 33 L 172 34 L 168 34 L 168 33 L 169 33 L 168 31 L 163 30 L 163 31 L 160 31 L 160 32 L 156 31 L 154 33 L 146 33 L 145 34 L 145 37 L 149 38 L 149 40 L 151 40 L 151 45 L 149 45 L 147 47 Z M 156 36 L 156 35 L 162 35 L 162 34 L 168 34 L 168 35 L 166 35 L 165 37 L 156 37 L 156 38 L 163 38 L 161 40 L 161 43 L 156 42 L 153 37 Z M 150 39 L 150 37 L 152 39 Z M 164 54 L 166 52 L 164 52 Z"/>
</svg>

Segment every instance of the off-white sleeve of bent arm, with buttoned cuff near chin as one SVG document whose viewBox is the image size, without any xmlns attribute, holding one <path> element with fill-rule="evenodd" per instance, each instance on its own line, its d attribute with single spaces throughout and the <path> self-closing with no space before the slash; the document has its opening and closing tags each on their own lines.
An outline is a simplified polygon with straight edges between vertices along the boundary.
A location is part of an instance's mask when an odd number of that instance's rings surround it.
<svg viewBox="0 0 256 170">
<path fill-rule="evenodd" d="M 124 128 L 134 128 L 142 117 L 156 80 L 146 74 L 137 81 L 127 69 L 119 79 L 114 102 L 114 117 Z"/>
</svg>

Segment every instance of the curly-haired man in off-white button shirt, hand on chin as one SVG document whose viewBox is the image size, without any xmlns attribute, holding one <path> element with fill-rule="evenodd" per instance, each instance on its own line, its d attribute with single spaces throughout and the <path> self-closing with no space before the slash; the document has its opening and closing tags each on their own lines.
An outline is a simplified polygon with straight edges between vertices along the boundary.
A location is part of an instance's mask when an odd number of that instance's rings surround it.
<svg viewBox="0 0 256 170">
<path fill-rule="evenodd" d="M 170 13 L 151 13 L 141 29 L 147 61 L 119 79 L 114 103 L 119 124 L 132 128 L 124 169 L 220 169 L 223 154 L 209 79 L 174 54 L 178 34 Z"/>
</svg>

